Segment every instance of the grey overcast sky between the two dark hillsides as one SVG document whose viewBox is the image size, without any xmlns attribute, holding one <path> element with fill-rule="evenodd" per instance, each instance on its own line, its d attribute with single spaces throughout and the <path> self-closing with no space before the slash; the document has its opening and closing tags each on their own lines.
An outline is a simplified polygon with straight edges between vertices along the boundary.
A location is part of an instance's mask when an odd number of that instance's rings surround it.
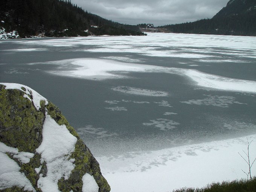
<svg viewBox="0 0 256 192">
<path fill-rule="evenodd" d="M 212 18 L 229 0 L 72 0 L 84 10 L 123 24 L 155 26 Z"/>
</svg>

